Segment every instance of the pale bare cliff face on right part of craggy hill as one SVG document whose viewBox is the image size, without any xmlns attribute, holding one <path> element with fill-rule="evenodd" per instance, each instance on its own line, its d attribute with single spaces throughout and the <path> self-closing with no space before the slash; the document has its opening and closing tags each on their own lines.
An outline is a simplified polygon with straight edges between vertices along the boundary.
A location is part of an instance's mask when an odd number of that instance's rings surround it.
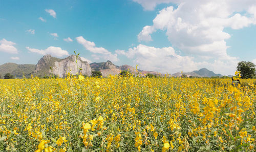
<svg viewBox="0 0 256 152">
<path fill-rule="evenodd" d="M 77 66 L 82 70 L 78 69 L 77 71 Z M 78 72 L 81 73 L 82 75 L 88 75 L 88 76 L 92 75 L 92 69 L 90 67 L 90 64 L 87 61 L 82 61 L 80 57 L 77 58 L 77 66 L 76 66 L 76 56 L 71 55 L 60 61 L 55 61 L 52 72 L 53 74 L 59 77 L 65 77 L 67 72 L 73 75 L 75 75 Z"/>
</svg>

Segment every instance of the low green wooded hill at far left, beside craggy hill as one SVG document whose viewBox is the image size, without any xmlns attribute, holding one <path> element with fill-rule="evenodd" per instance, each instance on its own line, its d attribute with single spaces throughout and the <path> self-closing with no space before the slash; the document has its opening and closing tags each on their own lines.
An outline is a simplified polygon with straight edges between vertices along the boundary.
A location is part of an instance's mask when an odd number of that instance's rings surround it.
<svg viewBox="0 0 256 152">
<path fill-rule="evenodd" d="M 29 76 L 35 70 L 35 64 L 5 63 L 0 66 L 0 75 L 11 73 L 16 77 Z"/>
</svg>

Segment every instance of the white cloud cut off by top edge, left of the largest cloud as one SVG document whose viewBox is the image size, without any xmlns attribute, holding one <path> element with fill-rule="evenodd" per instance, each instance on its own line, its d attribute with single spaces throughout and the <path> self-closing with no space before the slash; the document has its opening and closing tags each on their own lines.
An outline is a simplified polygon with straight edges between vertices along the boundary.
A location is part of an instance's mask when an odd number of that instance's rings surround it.
<svg viewBox="0 0 256 152">
<path fill-rule="evenodd" d="M 170 3 L 170 2 L 173 2 L 174 0 L 133 0 L 133 1 L 139 3 L 144 8 L 144 10 L 152 11 L 155 9 L 156 5 L 158 4 Z"/>
</svg>

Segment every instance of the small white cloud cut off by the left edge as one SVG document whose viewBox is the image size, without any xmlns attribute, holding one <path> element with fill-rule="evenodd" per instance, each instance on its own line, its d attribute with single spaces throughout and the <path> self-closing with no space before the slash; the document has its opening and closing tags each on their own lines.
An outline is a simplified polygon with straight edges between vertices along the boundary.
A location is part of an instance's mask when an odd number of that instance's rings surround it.
<svg viewBox="0 0 256 152">
<path fill-rule="evenodd" d="M 14 47 L 15 42 L 8 41 L 5 38 L 0 40 L 0 51 L 11 53 L 11 54 L 17 54 L 18 50 Z"/>
</svg>

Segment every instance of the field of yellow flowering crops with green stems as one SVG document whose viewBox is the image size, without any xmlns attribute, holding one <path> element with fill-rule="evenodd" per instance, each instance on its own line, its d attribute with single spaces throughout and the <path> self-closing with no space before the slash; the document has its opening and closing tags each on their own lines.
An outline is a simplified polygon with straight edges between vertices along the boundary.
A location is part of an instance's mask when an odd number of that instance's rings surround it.
<svg viewBox="0 0 256 152">
<path fill-rule="evenodd" d="M 0 80 L 0 151 L 254 151 L 255 79 Z"/>
</svg>

